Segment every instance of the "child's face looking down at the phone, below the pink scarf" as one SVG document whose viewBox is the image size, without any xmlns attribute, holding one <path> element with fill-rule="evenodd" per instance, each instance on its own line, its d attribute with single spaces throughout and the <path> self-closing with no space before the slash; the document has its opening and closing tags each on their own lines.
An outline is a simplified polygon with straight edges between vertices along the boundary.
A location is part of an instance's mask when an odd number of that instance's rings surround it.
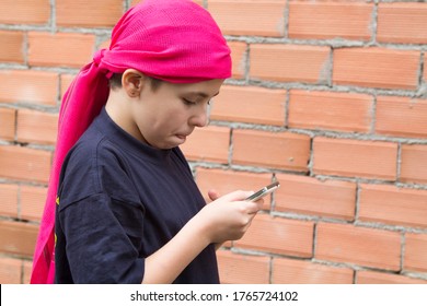
<svg viewBox="0 0 427 306">
<path fill-rule="evenodd" d="M 191 84 L 147 84 L 131 104 L 130 133 L 157 149 L 172 149 L 185 142 L 196 127 L 208 123 L 208 104 L 223 80 Z"/>
</svg>

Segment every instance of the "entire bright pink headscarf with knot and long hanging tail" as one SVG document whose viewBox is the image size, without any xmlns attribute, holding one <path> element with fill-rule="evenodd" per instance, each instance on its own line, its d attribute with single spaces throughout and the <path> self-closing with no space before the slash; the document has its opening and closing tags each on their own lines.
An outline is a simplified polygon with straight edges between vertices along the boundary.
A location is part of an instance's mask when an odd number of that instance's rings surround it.
<svg viewBox="0 0 427 306">
<path fill-rule="evenodd" d="M 64 158 L 105 105 L 108 79 L 128 68 L 171 83 L 227 79 L 230 49 L 211 15 L 189 0 L 145 0 L 123 15 L 109 49 L 97 51 L 64 95 L 31 283 L 54 282 L 55 202 Z"/>
</svg>

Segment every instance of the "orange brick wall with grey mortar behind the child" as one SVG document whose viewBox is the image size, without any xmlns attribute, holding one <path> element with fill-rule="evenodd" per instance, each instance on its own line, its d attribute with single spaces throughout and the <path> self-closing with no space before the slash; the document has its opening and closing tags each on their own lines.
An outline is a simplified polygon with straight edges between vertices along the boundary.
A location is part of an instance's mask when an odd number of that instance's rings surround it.
<svg viewBox="0 0 427 306">
<path fill-rule="evenodd" d="M 0 282 L 27 283 L 61 95 L 137 1 L 0 2 Z M 200 0 L 232 48 L 183 145 L 204 195 L 281 188 L 224 283 L 427 283 L 427 3 Z"/>
</svg>

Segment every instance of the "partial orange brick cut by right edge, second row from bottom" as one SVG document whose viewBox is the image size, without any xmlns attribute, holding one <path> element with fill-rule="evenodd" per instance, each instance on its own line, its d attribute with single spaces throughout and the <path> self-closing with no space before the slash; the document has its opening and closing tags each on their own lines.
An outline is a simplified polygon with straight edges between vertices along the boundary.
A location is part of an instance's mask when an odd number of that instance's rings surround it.
<svg viewBox="0 0 427 306">
<path fill-rule="evenodd" d="M 427 272 L 427 235 L 406 233 L 404 270 Z"/>
</svg>

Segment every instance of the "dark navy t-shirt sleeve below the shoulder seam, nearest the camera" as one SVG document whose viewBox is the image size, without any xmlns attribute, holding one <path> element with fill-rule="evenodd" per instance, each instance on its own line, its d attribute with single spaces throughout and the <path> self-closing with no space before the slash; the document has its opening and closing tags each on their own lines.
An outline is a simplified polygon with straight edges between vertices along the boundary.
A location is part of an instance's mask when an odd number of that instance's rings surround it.
<svg viewBox="0 0 427 306">
<path fill-rule="evenodd" d="M 141 204 L 95 193 L 58 213 L 76 283 L 141 283 Z"/>
</svg>

